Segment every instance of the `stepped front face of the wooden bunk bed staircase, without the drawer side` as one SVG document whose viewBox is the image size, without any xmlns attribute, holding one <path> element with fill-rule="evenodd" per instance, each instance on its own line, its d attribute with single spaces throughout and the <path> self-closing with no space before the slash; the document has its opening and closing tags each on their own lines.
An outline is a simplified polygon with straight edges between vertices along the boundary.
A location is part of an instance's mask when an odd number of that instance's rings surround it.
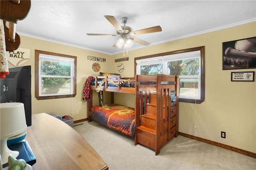
<svg viewBox="0 0 256 170">
<path fill-rule="evenodd" d="M 136 139 L 150 149 L 156 149 L 156 84 L 141 85 L 140 82 L 156 82 L 156 76 L 136 76 Z"/>
</svg>

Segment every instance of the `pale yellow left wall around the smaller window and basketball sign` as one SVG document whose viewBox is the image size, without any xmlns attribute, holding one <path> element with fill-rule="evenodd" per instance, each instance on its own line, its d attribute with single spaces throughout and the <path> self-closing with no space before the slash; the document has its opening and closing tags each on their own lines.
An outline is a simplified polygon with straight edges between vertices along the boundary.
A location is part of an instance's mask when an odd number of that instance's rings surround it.
<svg viewBox="0 0 256 170">
<path fill-rule="evenodd" d="M 35 113 L 55 113 L 60 116 L 71 115 L 74 117 L 74 120 L 80 120 L 87 118 L 87 106 L 86 103 L 82 101 L 82 92 L 84 83 L 87 80 L 88 76 L 98 76 L 98 72 L 92 70 L 92 64 L 96 61 L 91 61 L 87 59 L 87 56 L 94 56 L 106 59 L 106 63 L 98 62 L 101 65 L 101 70 L 110 69 L 109 65 L 112 64 L 111 56 L 88 51 L 85 49 L 79 49 L 76 47 L 70 47 L 67 45 L 61 45 L 58 43 L 52 43 L 49 41 L 44 41 L 40 39 L 35 39 L 26 36 L 20 36 L 21 45 L 20 48 L 30 49 L 30 60 L 20 66 L 31 65 L 32 66 L 32 114 Z M 77 57 L 77 77 L 76 77 L 76 97 L 75 98 L 61 98 L 61 99 L 48 99 L 48 100 L 37 100 L 35 98 L 35 49 L 42 51 L 49 51 L 53 53 L 60 53 L 66 55 L 72 55 Z M 14 67 L 9 63 L 9 67 Z M 97 100 L 96 100 L 97 102 Z M 76 114 L 76 111 L 79 111 L 79 114 Z"/>
</svg>

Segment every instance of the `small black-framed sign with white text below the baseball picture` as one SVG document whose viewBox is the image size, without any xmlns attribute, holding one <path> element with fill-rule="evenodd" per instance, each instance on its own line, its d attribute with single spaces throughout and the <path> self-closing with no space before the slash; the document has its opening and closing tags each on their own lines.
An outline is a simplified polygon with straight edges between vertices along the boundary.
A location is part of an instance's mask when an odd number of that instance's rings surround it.
<svg viewBox="0 0 256 170">
<path fill-rule="evenodd" d="M 254 71 L 250 71 L 250 72 L 231 72 L 231 81 L 254 82 Z"/>
</svg>

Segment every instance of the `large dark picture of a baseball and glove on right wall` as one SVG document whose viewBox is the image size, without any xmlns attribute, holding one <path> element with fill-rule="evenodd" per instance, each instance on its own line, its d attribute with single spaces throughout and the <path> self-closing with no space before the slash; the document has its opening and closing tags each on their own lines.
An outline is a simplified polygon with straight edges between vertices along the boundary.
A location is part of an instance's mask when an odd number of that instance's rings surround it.
<svg viewBox="0 0 256 170">
<path fill-rule="evenodd" d="M 222 43 L 222 70 L 256 68 L 256 37 Z"/>
</svg>

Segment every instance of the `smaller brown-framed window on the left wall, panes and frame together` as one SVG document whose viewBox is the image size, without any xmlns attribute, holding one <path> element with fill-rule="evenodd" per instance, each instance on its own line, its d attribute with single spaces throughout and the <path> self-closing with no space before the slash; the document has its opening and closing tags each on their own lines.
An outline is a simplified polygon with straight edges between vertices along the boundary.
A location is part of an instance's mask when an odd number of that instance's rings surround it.
<svg viewBox="0 0 256 170">
<path fill-rule="evenodd" d="M 38 100 L 76 96 L 76 56 L 35 50 L 35 96 Z"/>
</svg>

